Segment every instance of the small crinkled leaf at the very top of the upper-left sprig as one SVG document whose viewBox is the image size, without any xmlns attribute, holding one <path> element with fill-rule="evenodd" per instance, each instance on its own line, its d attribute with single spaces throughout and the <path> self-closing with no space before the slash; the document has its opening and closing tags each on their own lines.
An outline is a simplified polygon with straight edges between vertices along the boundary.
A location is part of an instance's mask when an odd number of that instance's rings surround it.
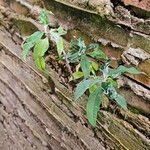
<svg viewBox="0 0 150 150">
<path fill-rule="evenodd" d="M 38 19 L 41 24 L 47 25 L 48 24 L 48 12 L 45 9 L 43 9 L 40 12 Z"/>
</svg>

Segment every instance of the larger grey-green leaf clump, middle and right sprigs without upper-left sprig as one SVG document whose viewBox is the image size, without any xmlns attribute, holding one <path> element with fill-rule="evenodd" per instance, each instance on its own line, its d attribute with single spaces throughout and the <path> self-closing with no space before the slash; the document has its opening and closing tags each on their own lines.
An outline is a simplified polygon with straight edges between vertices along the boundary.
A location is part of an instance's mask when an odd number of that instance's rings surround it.
<svg viewBox="0 0 150 150">
<path fill-rule="evenodd" d="M 89 123 L 96 126 L 97 113 L 102 102 L 103 95 L 107 96 L 110 101 L 116 102 L 121 108 L 127 109 L 127 103 L 123 96 L 117 92 L 118 78 L 123 73 L 139 74 L 140 72 L 134 68 L 119 66 L 115 69 L 110 69 L 110 60 L 103 53 L 97 44 L 85 46 L 84 41 L 80 38 L 71 42 L 71 51 L 68 54 L 68 60 L 71 63 L 78 63 L 81 71 L 76 69 L 73 73 L 74 79 L 83 77 L 83 80 L 77 84 L 75 89 L 75 100 L 79 99 L 87 90 L 89 91 L 88 102 L 86 106 L 86 114 Z M 91 52 L 88 52 L 92 50 Z M 94 58 L 94 60 L 90 59 Z M 96 67 L 93 63 L 98 59 L 103 60 L 103 65 Z M 97 63 L 96 63 L 97 64 Z M 96 73 L 97 72 L 97 73 Z"/>
</svg>

